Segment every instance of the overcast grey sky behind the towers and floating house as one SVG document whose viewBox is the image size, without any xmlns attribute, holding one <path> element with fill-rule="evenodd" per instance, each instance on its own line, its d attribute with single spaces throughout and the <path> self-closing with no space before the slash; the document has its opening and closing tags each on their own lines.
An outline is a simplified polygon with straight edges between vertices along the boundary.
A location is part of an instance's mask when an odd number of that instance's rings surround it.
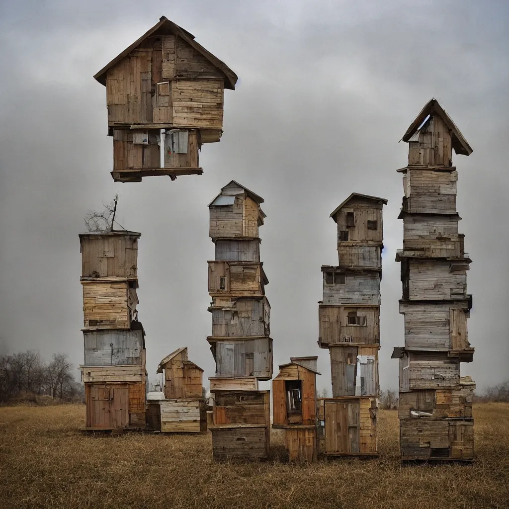
<svg viewBox="0 0 509 509">
<path fill-rule="evenodd" d="M 237 90 L 224 93 L 224 134 L 203 147 L 202 176 L 114 183 L 105 88 L 92 76 L 162 15 L 233 69 Z M 396 169 L 407 162 L 398 140 L 434 96 L 473 148 L 454 156 L 473 260 L 475 355 L 462 375 L 480 389 L 509 378 L 508 15 L 507 2 L 465 0 L 0 2 L 0 351 L 83 362 L 78 233 L 87 211 L 118 192 L 119 222 L 142 233 L 138 311 L 150 379 L 181 346 L 212 376 L 207 204 L 235 179 L 265 199 L 274 375 L 290 356 L 318 355 L 318 386 L 329 394 L 328 351 L 317 345 L 320 266 L 337 265 L 329 214 L 353 191 L 388 199 L 380 385 L 397 387 Z"/>
</svg>

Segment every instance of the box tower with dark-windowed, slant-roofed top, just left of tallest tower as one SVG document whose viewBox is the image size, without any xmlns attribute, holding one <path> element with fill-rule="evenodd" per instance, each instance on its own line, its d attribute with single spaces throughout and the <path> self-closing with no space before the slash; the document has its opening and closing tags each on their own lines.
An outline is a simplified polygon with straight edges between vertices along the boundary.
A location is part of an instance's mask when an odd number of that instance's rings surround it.
<svg viewBox="0 0 509 509">
<path fill-rule="evenodd" d="M 332 398 L 323 400 L 325 454 L 375 456 L 382 208 L 387 200 L 352 193 L 330 215 L 339 265 L 322 266 L 319 340 L 330 352 Z"/>
</svg>

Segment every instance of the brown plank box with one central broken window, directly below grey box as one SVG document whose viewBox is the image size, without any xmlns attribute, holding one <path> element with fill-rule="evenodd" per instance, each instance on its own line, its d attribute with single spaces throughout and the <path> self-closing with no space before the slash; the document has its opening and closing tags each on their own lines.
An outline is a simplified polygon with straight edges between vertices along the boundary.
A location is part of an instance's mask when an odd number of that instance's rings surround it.
<svg viewBox="0 0 509 509">
<path fill-rule="evenodd" d="M 319 343 L 322 347 L 334 344 L 380 343 L 380 308 L 378 306 L 318 307 Z M 352 322 L 356 323 L 352 323 Z"/>
</svg>

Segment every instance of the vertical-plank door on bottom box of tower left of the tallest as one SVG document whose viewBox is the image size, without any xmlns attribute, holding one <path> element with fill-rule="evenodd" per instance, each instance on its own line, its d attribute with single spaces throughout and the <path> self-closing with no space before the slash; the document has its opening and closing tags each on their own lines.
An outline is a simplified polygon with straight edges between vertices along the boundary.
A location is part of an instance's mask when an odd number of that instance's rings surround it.
<svg viewBox="0 0 509 509">
<path fill-rule="evenodd" d="M 359 421 L 359 400 L 325 401 L 325 453 L 358 453 Z"/>
</svg>

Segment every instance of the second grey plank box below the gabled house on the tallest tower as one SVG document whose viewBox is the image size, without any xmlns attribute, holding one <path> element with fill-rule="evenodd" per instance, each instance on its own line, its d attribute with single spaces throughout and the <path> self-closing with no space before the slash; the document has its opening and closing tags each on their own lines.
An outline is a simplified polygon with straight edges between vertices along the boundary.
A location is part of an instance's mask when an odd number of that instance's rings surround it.
<svg viewBox="0 0 509 509">
<path fill-rule="evenodd" d="M 403 250 L 407 256 L 459 258 L 458 216 L 405 215 Z"/>
</svg>

